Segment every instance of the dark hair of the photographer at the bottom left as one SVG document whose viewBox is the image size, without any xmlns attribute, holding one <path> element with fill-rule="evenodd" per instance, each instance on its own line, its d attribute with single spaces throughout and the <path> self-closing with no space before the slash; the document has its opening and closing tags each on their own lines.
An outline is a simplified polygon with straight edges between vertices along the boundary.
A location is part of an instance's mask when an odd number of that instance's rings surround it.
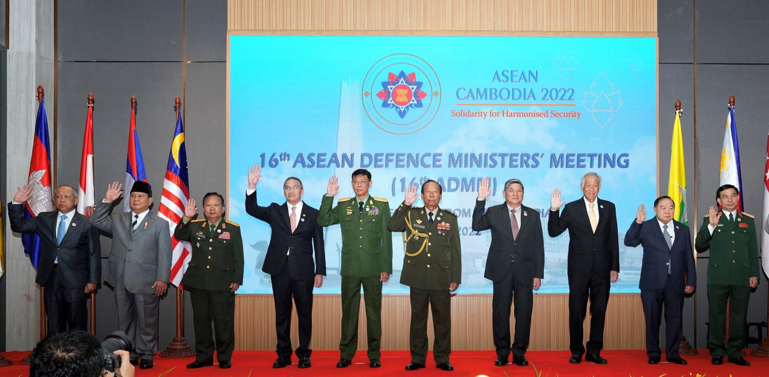
<svg viewBox="0 0 769 377">
<path fill-rule="evenodd" d="M 104 358 L 102 343 L 85 331 L 48 336 L 32 351 L 30 377 L 99 377 Z"/>
</svg>

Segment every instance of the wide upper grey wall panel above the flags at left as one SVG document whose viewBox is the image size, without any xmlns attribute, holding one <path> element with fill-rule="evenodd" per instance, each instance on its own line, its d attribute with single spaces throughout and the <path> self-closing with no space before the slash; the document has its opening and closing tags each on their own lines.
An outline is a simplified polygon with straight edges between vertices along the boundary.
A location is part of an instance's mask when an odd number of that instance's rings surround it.
<svg viewBox="0 0 769 377">
<path fill-rule="evenodd" d="M 59 61 L 181 61 L 181 0 L 58 2 Z"/>
</svg>

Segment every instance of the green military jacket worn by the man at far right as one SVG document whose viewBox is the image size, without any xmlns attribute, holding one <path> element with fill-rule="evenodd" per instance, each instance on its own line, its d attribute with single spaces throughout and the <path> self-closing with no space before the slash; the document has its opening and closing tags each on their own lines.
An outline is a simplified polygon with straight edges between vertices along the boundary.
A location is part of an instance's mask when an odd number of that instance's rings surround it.
<svg viewBox="0 0 769 377">
<path fill-rule="evenodd" d="M 707 260 L 707 283 L 749 286 L 750 278 L 757 278 L 761 273 L 753 215 L 737 212 L 737 218 L 730 222 L 723 214 L 712 235 L 707 229 L 709 217 L 705 215 L 694 242 L 697 253 L 711 250 Z"/>
</svg>

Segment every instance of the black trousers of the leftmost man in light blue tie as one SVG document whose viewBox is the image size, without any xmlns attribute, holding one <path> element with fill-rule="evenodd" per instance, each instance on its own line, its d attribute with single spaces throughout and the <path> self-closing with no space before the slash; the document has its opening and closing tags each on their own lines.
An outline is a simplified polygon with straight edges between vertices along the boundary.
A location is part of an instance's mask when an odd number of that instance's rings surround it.
<svg viewBox="0 0 769 377">
<path fill-rule="evenodd" d="M 51 270 L 43 287 L 45 316 L 48 319 L 48 336 L 67 330 L 88 331 L 88 295 L 85 286 L 67 288 L 59 279 L 58 266 Z"/>
</svg>

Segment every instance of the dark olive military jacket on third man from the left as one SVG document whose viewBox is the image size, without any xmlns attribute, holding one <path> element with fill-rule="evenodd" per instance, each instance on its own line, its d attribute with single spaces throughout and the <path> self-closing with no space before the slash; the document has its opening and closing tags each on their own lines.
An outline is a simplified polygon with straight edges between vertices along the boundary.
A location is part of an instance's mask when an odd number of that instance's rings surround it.
<svg viewBox="0 0 769 377">
<path fill-rule="evenodd" d="M 230 290 L 243 284 L 243 240 L 237 223 L 222 219 L 211 232 L 208 221 L 184 220 L 174 236 L 192 244 L 192 257 L 181 283 L 197 289 Z"/>
</svg>

